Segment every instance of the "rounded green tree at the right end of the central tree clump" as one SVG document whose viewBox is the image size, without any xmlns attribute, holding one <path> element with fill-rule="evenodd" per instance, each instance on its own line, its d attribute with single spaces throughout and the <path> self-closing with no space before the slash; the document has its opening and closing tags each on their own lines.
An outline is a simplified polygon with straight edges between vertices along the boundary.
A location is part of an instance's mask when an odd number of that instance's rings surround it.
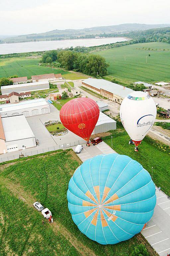
<svg viewBox="0 0 170 256">
<path fill-rule="evenodd" d="M 107 75 L 107 68 L 109 64 L 106 63 L 104 57 L 99 55 L 90 54 L 88 55 L 88 63 L 85 68 L 85 73 L 93 76 L 104 76 Z"/>
</svg>

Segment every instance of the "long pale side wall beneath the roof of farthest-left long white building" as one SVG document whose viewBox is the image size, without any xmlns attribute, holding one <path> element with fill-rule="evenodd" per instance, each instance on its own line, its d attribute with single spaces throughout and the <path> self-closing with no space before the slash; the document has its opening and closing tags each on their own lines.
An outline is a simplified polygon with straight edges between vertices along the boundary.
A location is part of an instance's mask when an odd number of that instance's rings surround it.
<svg viewBox="0 0 170 256">
<path fill-rule="evenodd" d="M 1 87 L 1 92 L 2 95 L 3 94 L 9 94 L 11 92 L 30 92 L 30 91 L 40 91 L 40 90 L 47 90 L 49 89 L 49 84 L 42 84 L 42 85 L 31 85 L 32 83 L 27 83 L 27 86 L 23 86 L 23 87 L 13 87 L 10 89 L 3 89 Z"/>
</svg>

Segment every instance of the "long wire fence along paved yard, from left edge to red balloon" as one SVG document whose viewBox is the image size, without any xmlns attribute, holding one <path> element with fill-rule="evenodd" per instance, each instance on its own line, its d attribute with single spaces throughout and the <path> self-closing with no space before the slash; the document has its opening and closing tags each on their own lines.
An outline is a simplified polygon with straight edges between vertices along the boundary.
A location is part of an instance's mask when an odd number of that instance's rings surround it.
<svg viewBox="0 0 170 256">
<path fill-rule="evenodd" d="M 23 149 L 23 150 L 17 151 L 18 153 L 16 153 L 16 154 L 7 153 L 6 154 L 7 156 L 0 157 L 0 163 L 18 159 L 21 154 L 23 154 L 24 157 L 34 156 L 34 155 L 39 155 L 39 154 L 43 154 L 43 153 L 50 152 L 50 151 L 55 151 L 58 149 L 66 149 L 69 147 L 74 147 L 74 146 L 77 146 L 78 144 L 84 144 L 84 143 L 86 143 L 86 141 L 82 139 L 82 140 L 77 140 L 77 141 L 73 141 L 73 142 L 69 142 L 69 143 L 63 143 L 61 145 L 56 145 L 56 146 L 51 146 L 51 147 L 46 147 L 46 148 L 39 148 L 39 146 L 37 146 L 36 149 L 32 149 L 32 150 L 31 149 Z"/>
</svg>

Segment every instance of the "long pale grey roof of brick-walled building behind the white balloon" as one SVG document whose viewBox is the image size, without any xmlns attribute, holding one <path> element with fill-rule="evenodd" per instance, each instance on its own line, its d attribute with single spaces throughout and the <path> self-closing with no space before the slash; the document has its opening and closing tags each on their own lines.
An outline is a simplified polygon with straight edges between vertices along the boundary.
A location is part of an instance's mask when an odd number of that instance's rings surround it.
<svg viewBox="0 0 170 256">
<path fill-rule="evenodd" d="M 95 79 L 95 78 L 88 78 L 83 81 L 84 83 L 91 85 L 98 89 L 103 89 L 108 92 L 111 92 L 115 95 L 118 95 L 122 98 L 125 98 L 129 93 L 133 92 L 132 89 L 124 87 L 120 84 L 115 84 L 110 81 L 104 79 Z"/>
</svg>

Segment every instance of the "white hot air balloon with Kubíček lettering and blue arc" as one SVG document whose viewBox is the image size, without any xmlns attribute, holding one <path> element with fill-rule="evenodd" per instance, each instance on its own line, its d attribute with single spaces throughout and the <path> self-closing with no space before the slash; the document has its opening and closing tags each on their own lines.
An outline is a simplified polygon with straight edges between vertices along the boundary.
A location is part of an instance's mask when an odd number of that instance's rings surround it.
<svg viewBox="0 0 170 256">
<path fill-rule="evenodd" d="M 125 130 L 137 147 L 154 124 L 155 102 L 145 92 L 132 92 L 124 98 L 121 104 L 120 118 Z"/>
</svg>

